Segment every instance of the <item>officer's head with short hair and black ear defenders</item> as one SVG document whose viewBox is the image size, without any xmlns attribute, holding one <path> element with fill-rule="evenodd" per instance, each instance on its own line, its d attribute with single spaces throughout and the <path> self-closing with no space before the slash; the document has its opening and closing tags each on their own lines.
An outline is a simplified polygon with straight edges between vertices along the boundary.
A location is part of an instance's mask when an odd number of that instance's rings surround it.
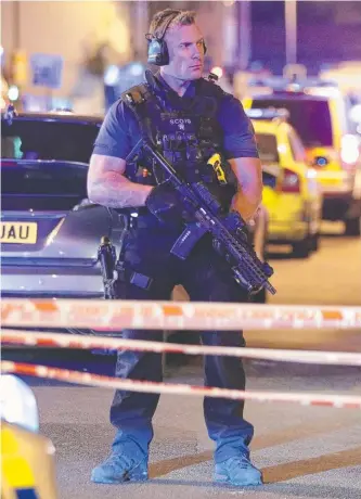
<svg viewBox="0 0 361 499">
<path fill-rule="evenodd" d="M 195 21 L 195 12 L 165 9 L 152 20 L 149 62 L 181 80 L 201 78 L 206 46 Z"/>
</svg>

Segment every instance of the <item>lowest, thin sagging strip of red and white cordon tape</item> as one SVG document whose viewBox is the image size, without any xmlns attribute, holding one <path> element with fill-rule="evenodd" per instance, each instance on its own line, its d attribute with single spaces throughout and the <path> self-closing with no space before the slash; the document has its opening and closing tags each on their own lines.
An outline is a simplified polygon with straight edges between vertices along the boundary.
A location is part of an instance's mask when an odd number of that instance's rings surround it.
<svg viewBox="0 0 361 499">
<path fill-rule="evenodd" d="M 87 386 L 100 386 L 104 388 L 116 388 L 129 392 L 168 395 L 195 395 L 211 398 L 231 398 L 233 400 L 255 400 L 259 402 L 297 402 L 301 404 L 302 406 L 326 406 L 345 409 L 361 409 L 361 396 L 323 395 L 318 393 L 305 394 L 256 391 L 243 392 L 237 389 L 216 388 L 208 386 L 156 383 L 138 380 L 120 380 L 117 378 L 105 376 L 101 374 L 91 374 L 89 372 L 69 371 L 66 369 L 11 361 L 0 362 L 0 368 L 2 372 L 18 375 L 47 378 L 67 383 L 75 383 Z"/>
</svg>

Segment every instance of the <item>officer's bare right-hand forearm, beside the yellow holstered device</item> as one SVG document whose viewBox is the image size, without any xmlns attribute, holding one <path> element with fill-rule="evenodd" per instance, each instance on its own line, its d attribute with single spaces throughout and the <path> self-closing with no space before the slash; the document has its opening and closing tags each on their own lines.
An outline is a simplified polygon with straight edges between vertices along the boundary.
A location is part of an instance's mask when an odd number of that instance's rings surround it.
<svg viewBox="0 0 361 499">
<path fill-rule="evenodd" d="M 262 169 L 256 157 L 236 157 L 229 163 L 237 178 L 237 192 L 232 200 L 232 208 L 247 221 L 257 212 L 262 201 Z"/>
</svg>

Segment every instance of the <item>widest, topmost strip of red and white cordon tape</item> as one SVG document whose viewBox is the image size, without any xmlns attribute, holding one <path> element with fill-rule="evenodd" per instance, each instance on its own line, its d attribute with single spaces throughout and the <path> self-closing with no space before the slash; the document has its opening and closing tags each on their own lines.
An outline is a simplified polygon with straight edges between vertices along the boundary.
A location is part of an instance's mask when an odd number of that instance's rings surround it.
<svg viewBox="0 0 361 499">
<path fill-rule="evenodd" d="M 361 307 L 3 298 L 2 325 L 98 330 L 360 329 Z"/>
</svg>

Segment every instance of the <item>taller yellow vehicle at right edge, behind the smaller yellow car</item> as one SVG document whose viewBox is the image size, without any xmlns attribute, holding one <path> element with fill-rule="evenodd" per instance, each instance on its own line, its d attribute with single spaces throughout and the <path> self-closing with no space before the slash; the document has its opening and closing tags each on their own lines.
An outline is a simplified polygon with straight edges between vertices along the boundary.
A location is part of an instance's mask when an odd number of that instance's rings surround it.
<svg viewBox="0 0 361 499">
<path fill-rule="evenodd" d="M 323 219 L 343 220 L 347 235 L 360 235 L 360 139 L 341 91 L 318 79 L 289 82 L 270 78 L 249 87 L 243 104 L 245 108 L 288 111 L 289 124 L 302 140 L 307 159 L 322 184 Z"/>
</svg>

